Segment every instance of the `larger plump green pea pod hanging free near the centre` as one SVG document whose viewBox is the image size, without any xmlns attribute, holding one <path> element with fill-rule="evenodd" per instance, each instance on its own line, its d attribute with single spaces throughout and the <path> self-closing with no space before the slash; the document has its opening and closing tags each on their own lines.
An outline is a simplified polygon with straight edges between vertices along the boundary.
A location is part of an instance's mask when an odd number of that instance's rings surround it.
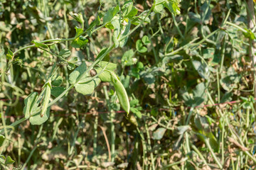
<svg viewBox="0 0 256 170">
<path fill-rule="evenodd" d="M 122 85 L 117 75 L 114 74 L 114 72 L 110 72 L 110 75 L 111 75 L 111 81 L 114 85 L 114 89 L 115 91 L 117 91 L 117 97 L 119 99 L 119 102 L 122 108 L 124 109 L 124 111 L 126 111 L 128 115 L 130 106 L 129 106 L 129 98 L 128 98 L 127 92 L 124 89 L 124 86 Z"/>
</svg>

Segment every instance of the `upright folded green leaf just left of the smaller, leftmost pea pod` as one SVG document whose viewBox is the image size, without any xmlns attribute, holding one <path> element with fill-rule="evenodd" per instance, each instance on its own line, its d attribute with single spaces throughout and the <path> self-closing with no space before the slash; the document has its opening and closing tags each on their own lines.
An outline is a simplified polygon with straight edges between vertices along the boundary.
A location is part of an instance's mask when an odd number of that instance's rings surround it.
<svg viewBox="0 0 256 170">
<path fill-rule="evenodd" d="M 38 98 L 37 92 L 31 93 L 25 98 L 25 107 L 23 108 L 23 114 L 25 115 L 25 118 L 29 118 L 31 114 L 33 114 L 32 108 L 36 104 L 36 98 Z"/>
</svg>

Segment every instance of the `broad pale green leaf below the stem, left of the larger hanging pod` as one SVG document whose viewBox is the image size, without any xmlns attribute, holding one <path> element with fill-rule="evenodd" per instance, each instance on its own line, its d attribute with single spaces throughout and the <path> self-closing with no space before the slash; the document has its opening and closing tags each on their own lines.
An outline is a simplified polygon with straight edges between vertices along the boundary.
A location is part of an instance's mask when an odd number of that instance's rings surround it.
<svg viewBox="0 0 256 170">
<path fill-rule="evenodd" d="M 83 79 L 83 81 L 87 81 L 89 79 L 91 79 L 91 77 Z M 75 91 L 78 91 L 78 93 L 83 95 L 92 94 L 95 88 L 97 87 L 97 85 L 99 84 L 100 84 L 100 79 L 95 78 L 86 83 L 75 84 Z"/>
</svg>

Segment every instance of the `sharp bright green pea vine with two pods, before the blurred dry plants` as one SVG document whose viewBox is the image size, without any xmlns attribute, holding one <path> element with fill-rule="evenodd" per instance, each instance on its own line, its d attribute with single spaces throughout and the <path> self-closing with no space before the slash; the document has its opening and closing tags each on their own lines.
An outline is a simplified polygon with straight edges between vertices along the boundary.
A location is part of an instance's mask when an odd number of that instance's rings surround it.
<svg viewBox="0 0 256 170">
<path fill-rule="evenodd" d="M 130 110 L 133 113 L 138 113 L 139 111 L 135 107 L 137 104 L 134 101 L 129 103 L 129 96 L 127 91 L 122 84 L 122 81 L 117 76 L 117 73 L 114 72 L 117 69 L 117 63 L 110 62 L 110 52 L 117 49 L 118 47 L 124 47 L 126 42 L 132 33 L 134 33 L 137 28 L 145 26 L 146 23 L 150 22 L 151 16 L 155 13 L 163 13 L 164 8 L 169 10 L 174 15 L 179 14 L 178 0 L 155 0 L 154 4 L 151 5 L 151 8 L 138 12 L 138 9 L 134 6 L 133 1 L 124 1 L 122 5 L 118 1 L 117 6 L 109 8 L 106 12 L 101 11 L 100 8 L 97 11 L 95 20 L 90 23 L 90 25 L 85 28 L 85 21 L 83 19 L 82 13 L 73 13 L 70 12 L 70 16 L 74 21 L 80 24 L 80 27 L 75 27 L 75 37 L 73 38 L 53 38 L 50 40 L 32 40 L 32 45 L 27 45 L 19 48 L 16 51 L 8 49 L 6 55 L 4 55 L 4 49 L 1 49 L 1 68 L 0 68 L 0 77 L 2 82 L 4 79 L 8 79 L 10 74 L 10 69 L 14 64 L 23 64 L 23 61 L 19 59 L 19 52 L 25 49 L 32 50 L 37 48 L 43 52 L 47 52 L 49 55 L 52 55 L 60 62 L 52 63 L 50 67 L 50 72 L 47 75 L 43 75 L 45 78 L 45 83 L 42 84 L 41 91 L 33 91 L 29 94 L 24 100 L 23 115 L 24 117 L 20 120 L 15 121 L 11 125 L 4 125 L 4 128 L 1 130 L 0 135 L 0 146 L 5 146 L 6 136 L 10 129 L 13 129 L 16 125 L 23 123 L 26 120 L 29 120 L 31 125 L 42 125 L 46 123 L 50 117 L 50 107 L 53 104 L 60 101 L 62 98 L 68 95 L 68 91 L 75 89 L 78 93 L 82 95 L 90 95 L 95 91 L 95 88 L 99 86 L 101 82 L 110 82 L 114 86 L 114 95 L 119 99 L 119 103 L 122 106 L 122 109 L 129 114 Z M 71 48 L 63 45 L 62 50 L 58 50 L 58 45 L 60 43 L 70 42 L 70 46 L 76 49 L 84 49 L 89 42 L 89 37 L 100 31 L 102 28 L 107 28 L 110 33 L 110 46 L 105 47 L 100 50 L 100 53 L 95 58 L 95 61 L 82 61 L 78 62 L 73 57 L 70 58 Z M 144 36 L 142 40 L 137 40 L 136 48 L 138 52 L 146 52 L 146 45 L 150 43 L 150 40 L 147 36 Z M 66 43 L 67 45 L 68 43 Z M 131 54 L 128 54 L 131 53 Z M 133 55 L 134 52 L 128 51 L 127 55 Z M 68 59 L 69 58 L 69 59 Z M 122 60 L 124 66 L 129 66 L 131 63 L 136 63 L 136 58 L 132 60 Z M 60 67 L 63 66 L 65 69 L 70 69 L 72 71 L 68 75 L 68 79 L 58 74 L 60 72 Z M 139 68 L 139 64 L 138 64 Z M 63 85 L 63 80 L 65 80 L 65 86 Z M 10 84 L 3 83 L 1 86 L 10 86 Z M 23 91 L 15 87 L 16 97 L 23 95 Z M 138 103 L 138 102 L 137 102 Z M 0 101 L 1 108 L 1 118 L 4 119 L 4 106 L 9 106 L 10 103 Z M 131 107 L 131 108 L 130 108 Z M 137 116 L 138 118 L 141 116 Z M 4 123 L 4 121 L 3 121 Z M 2 166 L 9 166 L 13 164 L 14 160 L 11 157 L 0 156 L 0 163 Z"/>
</svg>

